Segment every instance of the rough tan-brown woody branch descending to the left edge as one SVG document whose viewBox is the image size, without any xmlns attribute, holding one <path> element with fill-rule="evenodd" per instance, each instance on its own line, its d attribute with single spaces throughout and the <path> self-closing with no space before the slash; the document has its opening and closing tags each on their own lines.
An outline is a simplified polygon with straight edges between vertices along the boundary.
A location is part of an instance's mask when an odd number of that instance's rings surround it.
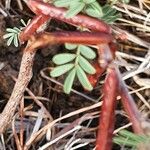
<svg viewBox="0 0 150 150">
<path fill-rule="evenodd" d="M 9 101 L 0 115 L 0 134 L 5 131 L 6 127 L 12 121 L 16 108 L 32 77 L 32 65 L 36 51 L 31 51 L 31 43 L 28 42 L 27 47 L 24 49 L 17 82 L 14 86 Z"/>
</svg>

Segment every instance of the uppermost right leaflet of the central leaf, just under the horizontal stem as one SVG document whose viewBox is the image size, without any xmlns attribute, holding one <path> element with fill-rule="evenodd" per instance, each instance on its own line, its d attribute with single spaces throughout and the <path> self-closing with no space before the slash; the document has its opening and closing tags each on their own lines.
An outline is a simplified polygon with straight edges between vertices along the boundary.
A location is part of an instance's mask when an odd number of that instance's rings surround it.
<svg viewBox="0 0 150 150">
<path fill-rule="evenodd" d="M 96 57 L 96 53 L 88 46 L 79 45 L 80 53 L 86 57 L 87 59 L 94 59 Z"/>
</svg>

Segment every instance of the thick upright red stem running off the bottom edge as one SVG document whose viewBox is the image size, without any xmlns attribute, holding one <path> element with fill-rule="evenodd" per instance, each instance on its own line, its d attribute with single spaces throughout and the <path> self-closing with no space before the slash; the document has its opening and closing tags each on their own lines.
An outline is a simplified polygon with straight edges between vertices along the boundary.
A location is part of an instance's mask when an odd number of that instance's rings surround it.
<svg viewBox="0 0 150 150">
<path fill-rule="evenodd" d="M 118 79 L 116 78 L 116 71 L 114 68 L 108 71 L 103 88 L 103 105 L 96 141 L 96 150 L 111 150 L 112 147 Z"/>
</svg>

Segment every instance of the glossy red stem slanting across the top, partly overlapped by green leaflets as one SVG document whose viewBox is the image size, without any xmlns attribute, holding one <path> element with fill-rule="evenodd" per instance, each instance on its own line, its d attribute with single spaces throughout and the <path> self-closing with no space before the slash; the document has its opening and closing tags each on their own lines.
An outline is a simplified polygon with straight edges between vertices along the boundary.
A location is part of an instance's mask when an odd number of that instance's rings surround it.
<svg viewBox="0 0 150 150">
<path fill-rule="evenodd" d="M 27 5 L 37 15 L 42 14 L 50 16 L 54 19 L 61 20 L 72 25 L 82 26 L 93 31 L 111 33 L 111 28 L 103 21 L 97 20 L 96 18 L 81 14 L 78 14 L 72 18 L 66 18 L 66 9 L 57 8 L 51 4 L 35 0 L 28 0 Z"/>
</svg>

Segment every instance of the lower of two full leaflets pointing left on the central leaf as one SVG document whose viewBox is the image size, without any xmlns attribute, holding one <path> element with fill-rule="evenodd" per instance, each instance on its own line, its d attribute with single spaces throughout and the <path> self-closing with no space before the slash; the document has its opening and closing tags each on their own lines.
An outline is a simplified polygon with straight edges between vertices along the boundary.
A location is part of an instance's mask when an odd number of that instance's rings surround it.
<svg viewBox="0 0 150 150">
<path fill-rule="evenodd" d="M 74 67 L 74 64 L 65 64 L 65 65 L 57 66 L 50 72 L 50 75 L 52 77 L 61 76 L 64 73 L 68 72 L 73 67 Z"/>
</svg>

